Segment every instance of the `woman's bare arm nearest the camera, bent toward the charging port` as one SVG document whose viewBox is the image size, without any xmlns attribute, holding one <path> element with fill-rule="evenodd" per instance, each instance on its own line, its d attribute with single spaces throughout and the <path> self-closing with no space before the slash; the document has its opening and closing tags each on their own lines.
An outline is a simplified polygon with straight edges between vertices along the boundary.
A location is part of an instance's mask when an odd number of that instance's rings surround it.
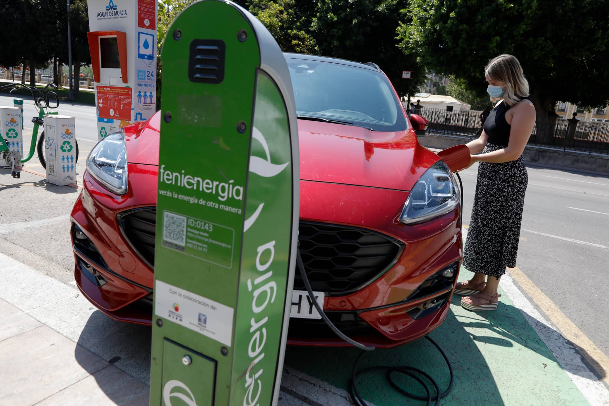
<svg viewBox="0 0 609 406">
<path fill-rule="evenodd" d="M 515 107 L 512 116 L 512 129 L 507 147 L 481 155 L 472 155 L 471 161 L 502 163 L 518 159 L 529 141 L 533 125 L 535 125 L 535 106 L 533 103 L 521 103 Z M 477 140 L 476 140 L 477 141 Z M 473 141 L 475 142 L 475 141 Z M 471 150 L 471 149 L 470 149 Z"/>
</svg>

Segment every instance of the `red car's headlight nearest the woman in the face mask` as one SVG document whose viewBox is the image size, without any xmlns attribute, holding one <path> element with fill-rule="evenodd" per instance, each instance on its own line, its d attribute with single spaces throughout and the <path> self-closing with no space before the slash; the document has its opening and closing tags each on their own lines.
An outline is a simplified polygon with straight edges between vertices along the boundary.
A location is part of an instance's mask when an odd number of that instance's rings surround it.
<svg viewBox="0 0 609 406">
<path fill-rule="evenodd" d="M 454 175 L 438 161 L 429 168 L 410 191 L 400 222 L 414 225 L 446 214 L 459 206 L 460 191 Z"/>
</svg>

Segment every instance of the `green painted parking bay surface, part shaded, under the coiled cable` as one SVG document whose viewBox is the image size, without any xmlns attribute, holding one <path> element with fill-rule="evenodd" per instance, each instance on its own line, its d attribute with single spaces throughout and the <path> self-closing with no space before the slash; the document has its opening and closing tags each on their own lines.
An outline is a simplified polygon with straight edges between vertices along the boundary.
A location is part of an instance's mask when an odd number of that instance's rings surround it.
<svg viewBox="0 0 609 406">
<path fill-rule="evenodd" d="M 471 277 L 465 268 L 460 281 Z M 496 312 L 470 312 L 454 295 L 451 311 L 442 326 L 429 336 L 446 352 L 454 369 L 454 387 L 442 405 L 588 405 L 554 355 L 523 314 L 502 294 Z M 289 347 L 286 365 L 349 390 L 356 349 Z M 448 368 L 442 355 L 421 338 L 395 349 L 365 354 L 359 369 L 376 365 L 409 365 L 430 374 L 448 387 Z M 577 371 L 572 371 L 577 373 Z M 402 378 L 399 378 L 402 379 Z M 404 388 L 424 394 L 414 382 L 403 379 Z M 431 386 L 431 384 L 430 384 Z M 377 406 L 423 404 L 404 397 L 385 380 L 384 373 L 359 379 L 362 396 Z"/>
</svg>

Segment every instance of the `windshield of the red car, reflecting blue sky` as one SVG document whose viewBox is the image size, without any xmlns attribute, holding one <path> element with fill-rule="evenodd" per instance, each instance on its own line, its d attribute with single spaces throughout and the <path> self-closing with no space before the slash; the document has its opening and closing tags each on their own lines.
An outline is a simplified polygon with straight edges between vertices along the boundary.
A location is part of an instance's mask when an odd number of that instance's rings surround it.
<svg viewBox="0 0 609 406">
<path fill-rule="evenodd" d="M 318 60 L 286 61 L 300 118 L 374 131 L 406 130 L 400 100 L 381 72 Z"/>
</svg>

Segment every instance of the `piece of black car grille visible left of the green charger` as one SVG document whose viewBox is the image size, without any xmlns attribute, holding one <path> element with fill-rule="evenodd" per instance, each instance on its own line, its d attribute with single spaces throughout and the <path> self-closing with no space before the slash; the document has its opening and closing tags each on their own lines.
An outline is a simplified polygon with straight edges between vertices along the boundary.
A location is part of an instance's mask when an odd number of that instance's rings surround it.
<svg viewBox="0 0 609 406">
<path fill-rule="evenodd" d="M 119 213 L 116 216 L 125 240 L 141 259 L 154 268 L 154 239 L 157 208 L 147 207 Z"/>
</svg>

